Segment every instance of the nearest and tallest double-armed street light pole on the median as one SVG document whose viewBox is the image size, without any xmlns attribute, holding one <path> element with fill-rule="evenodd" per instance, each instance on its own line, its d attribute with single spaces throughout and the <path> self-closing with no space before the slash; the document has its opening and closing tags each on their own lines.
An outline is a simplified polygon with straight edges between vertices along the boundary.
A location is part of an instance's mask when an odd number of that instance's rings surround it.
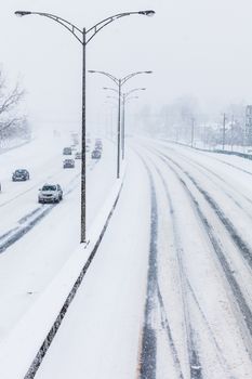
<svg viewBox="0 0 252 379">
<path fill-rule="evenodd" d="M 93 37 L 102 30 L 105 26 L 112 23 L 114 21 L 130 16 L 133 14 L 152 16 L 155 11 L 138 11 L 138 12 L 124 12 L 118 13 L 110 17 L 104 18 L 91 28 L 80 29 L 76 25 L 69 23 L 68 21 L 58 17 L 54 14 L 43 13 L 43 12 L 29 12 L 29 11 L 16 11 L 15 15 L 26 16 L 26 15 L 39 15 L 51 18 L 57 24 L 66 28 L 81 44 L 82 44 L 82 128 L 81 128 L 81 233 L 80 243 L 85 241 L 87 237 L 87 167 L 85 167 L 85 47 L 93 39 Z"/>
</svg>

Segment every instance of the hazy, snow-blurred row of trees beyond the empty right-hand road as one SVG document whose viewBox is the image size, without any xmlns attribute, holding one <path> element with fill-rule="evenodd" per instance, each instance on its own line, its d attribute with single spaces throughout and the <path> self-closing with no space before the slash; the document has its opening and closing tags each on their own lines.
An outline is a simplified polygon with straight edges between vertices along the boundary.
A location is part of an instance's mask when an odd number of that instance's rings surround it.
<svg viewBox="0 0 252 379">
<path fill-rule="evenodd" d="M 146 105 L 136 118 L 142 133 L 191 146 L 233 149 L 251 145 L 244 104 L 230 104 L 225 113 L 208 110 L 202 112 L 195 97 L 183 96 L 156 113 Z"/>
</svg>

